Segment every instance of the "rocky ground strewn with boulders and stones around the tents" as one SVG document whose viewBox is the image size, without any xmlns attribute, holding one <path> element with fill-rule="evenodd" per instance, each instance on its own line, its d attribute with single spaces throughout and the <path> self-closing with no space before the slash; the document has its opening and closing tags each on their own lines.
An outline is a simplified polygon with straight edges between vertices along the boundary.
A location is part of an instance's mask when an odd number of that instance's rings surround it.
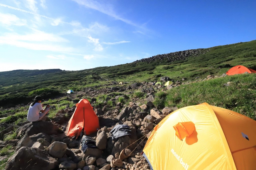
<svg viewBox="0 0 256 170">
<path fill-rule="evenodd" d="M 207 79 L 211 78 L 214 76 L 207 77 Z M 162 82 L 169 80 L 169 77 L 161 77 Z M 21 122 L 18 124 L 18 129 L 15 129 L 13 124 L 0 124 L 1 127 L 5 127 L 0 132 L 2 137 L 4 134 L 13 133 L 13 130 L 17 133 L 16 139 L 0 141 L 0 148 L 8 147 L 9 152 L 15 152 L 5 163 L 5 169 L 149 170 L 146 159 L 141 155 L 147 139 L 164 117 L 178 109 L 176 107 L 157 109 L 153 104 L 156 98 L 155 93 L 175 88 L 180 84 L 184 82 L 176 81 L 167 87 L 148 82 L 127 86 L 112 82 L 111 88 L 96 86 L 71 94 L 69 96 L 71 99 L 77 95 L 90 96 L 93 110 L 99 117 L 101 129 L 89 135 L 95 140 L 98 148 L 89 148 L 85 153 L 81 151 L 79 139 L 73 140 L 66 136 L 67 130 L 61 130 L 74 113 L 76 106 L 67 105 L 66 109 L 58 111 L 52 121 L 45 119 L 46 121 L 35 123 Z M 130 94 L 134 91 L 147 93 L 147 95 L 140 98 L 131 97 Z M 122 93 L 122 95 L 116 96 L 113 92 Z M 108 96 L 99 105 L 96 97 L 102 94 L 108 94 Z M 129 102 L 123 104 L 119 98 Z M 112 105 L 108 105 L 108 101 L 112 101 Z M 69 117 L 66 116 L 67 114 Z M 130 126 L 131 135 L 112 140 L 109 132 L 117 124 Z M 1 156 L 0 161 L 6 158 Z"/>
</svg>

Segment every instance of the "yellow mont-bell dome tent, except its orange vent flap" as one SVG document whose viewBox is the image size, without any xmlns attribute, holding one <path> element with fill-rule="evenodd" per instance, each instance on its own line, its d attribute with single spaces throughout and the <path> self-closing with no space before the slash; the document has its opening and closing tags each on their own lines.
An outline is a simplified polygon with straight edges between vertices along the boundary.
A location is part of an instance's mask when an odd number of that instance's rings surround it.
<svg viewBox="0 0 256 170">
<path fill-rule="evenodd" d="M 170 128 L 179 122 L 195 124 L 194 132 L 183 140 Z M 152 131 L 143 152 L 155 170 L 251 170 L 256 167 L 255 134 L 256 121 L 202 103 L 166 116 Z"/>
</svg>

